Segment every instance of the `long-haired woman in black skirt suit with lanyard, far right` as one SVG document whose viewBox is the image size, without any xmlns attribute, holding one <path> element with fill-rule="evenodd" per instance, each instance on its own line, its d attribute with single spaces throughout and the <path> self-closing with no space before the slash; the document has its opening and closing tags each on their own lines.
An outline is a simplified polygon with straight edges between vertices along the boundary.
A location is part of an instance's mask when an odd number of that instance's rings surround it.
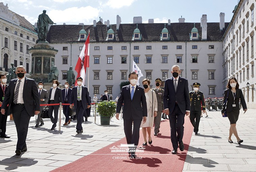
<svg viewBox="0 0 256 172">
<path fill-rule="evenodd" d="M 225 103 L 226 99 L 227 102 Z M 224 92 L 224 104 L 221 113 L 224 116 L 224 112 L 226 111 L 227 117 L 230 121 L 230 133 L 228 142 L 233 143 L 231 136 L 234 134 L 236 136 L 238 144 L 241 144 L 243 140 L 239 138 L 236 130 L 236 121 L 238 120 L 240 112 L 239 100 L 241 100 L 241 104 L 245 113 L 247 111 L 247 107 L 244 100 L 244 95 L 242 93 L 242 90 L 239 89 L 239 84 L 236 78 L 231 77 L 227 83 L 227 90 L 225 90 Z"/>
</svg>

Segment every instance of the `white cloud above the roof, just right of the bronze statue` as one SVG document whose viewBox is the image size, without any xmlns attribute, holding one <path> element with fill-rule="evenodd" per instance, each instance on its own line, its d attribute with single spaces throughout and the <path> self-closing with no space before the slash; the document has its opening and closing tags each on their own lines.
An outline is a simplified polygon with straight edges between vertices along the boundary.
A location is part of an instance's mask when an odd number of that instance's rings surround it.
<svg viewBox="0 0 256 172">
<path fill-rule="evenodd" d="M 78 24 L 78 23 L 91 23 L 91 20 L 99 16 L 99 9 L 91 6 L 87 7 L 72 7 L 61 10 L 47 11 L 48 16 L 54 23 L 62 24 Z"/>
</svg>

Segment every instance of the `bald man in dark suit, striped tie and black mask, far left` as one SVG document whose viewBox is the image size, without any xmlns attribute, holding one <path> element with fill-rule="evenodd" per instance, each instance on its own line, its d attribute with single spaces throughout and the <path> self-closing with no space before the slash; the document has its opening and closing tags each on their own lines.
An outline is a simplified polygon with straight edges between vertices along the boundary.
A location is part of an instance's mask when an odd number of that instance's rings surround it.
<svg viewBox="0 0 256 172">
<path fill-rule="evenodd" d="M 5 114 L 9 104 L 9 113 L 12 113 L 17 130 L 16 156 L 27 150 L 26 136 L 29 120 L 40 112 L 40 101 L 35 80 L 25 77 L 26 69 L 23 66 L 16 68 L 17 79 L 12 79 L 3 100 L 1 113 Z"/>
</svg>

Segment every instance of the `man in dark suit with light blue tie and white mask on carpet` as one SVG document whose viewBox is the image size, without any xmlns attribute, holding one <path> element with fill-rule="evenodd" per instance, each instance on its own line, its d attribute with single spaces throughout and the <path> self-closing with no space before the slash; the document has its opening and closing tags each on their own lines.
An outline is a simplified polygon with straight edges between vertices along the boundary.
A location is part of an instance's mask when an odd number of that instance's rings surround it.
<svg viewBox="0 0 256 172">
<path fill-rule="evenodd" d="M 119 113 L 123 107 L 124 130 L 127 144 L 134 144 L 135 147 L 139 144 L 140 124 L 146 121 L 147 102 L 144 89 L 137 85 L 138 74 L 131 72 L 129 74 L 130 85 L 122 87 L 117 106 L 116 119 L 119 120 Z M 133 131 L 132 131 L 132 124 Z M 129 152 L 129 156 L 135 158 L 135 152 Z"/>
</svg>

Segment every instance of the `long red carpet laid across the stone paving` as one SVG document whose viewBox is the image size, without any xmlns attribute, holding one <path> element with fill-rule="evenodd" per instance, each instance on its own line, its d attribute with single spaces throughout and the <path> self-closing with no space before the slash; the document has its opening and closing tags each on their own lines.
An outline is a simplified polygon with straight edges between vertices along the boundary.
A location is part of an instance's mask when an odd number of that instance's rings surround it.
<svg viewBox="0 0 256 172">
<path fill-rule="evenodd" d="M 99 149 L 52 172 L 182 172 L 192 131 L 193 127 L 189 118 L 186 116 L 183 136 L 185 150 L 180 152 L 180 149 L 178 149 L 177 155 L 172 155 L 171 153 L 173 148 L 170 139 L 170 124 L 169 120 L 164 120 L 161 121 L 160 133 L 157 137 L 154 136 L 154 130 L 152 130 L 153 133 L 151 136 L 153 143 L 146 146 L 144 152 L 136 153 L 142 159 L 129 159 L 127 152 L 111 152 L 111 147 L 126 144 L 126 139 L 122 138 L 107 147 Z M 139 145 L 142 145 L 143 141 L 143 134 L 140 131 Z"/>
</svg>

